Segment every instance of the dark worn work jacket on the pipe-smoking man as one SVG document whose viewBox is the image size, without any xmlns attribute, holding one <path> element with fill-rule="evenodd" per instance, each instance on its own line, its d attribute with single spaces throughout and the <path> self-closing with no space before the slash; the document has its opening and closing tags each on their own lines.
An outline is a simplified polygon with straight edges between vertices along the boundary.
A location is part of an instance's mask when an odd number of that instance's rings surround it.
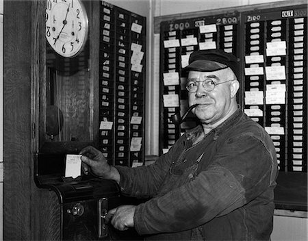
<svg viewBox="0 0 308 241">
<path fill-rule="evenodd" d="M 181 136 L 151 166 L 116 166 L 123 194 L 152 197 L 136 207 L 147 240 L 270 240 L 277 158 L 263 127 L 237 110 L 192 144 Z"/>
</svg>

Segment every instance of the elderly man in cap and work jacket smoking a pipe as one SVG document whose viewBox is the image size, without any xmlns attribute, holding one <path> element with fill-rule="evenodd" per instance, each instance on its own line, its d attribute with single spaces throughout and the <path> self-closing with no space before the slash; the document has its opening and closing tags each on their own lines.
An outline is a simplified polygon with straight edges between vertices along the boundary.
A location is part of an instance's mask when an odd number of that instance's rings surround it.
<svg viewBox="0 0 308 241">
<path fill-rule="evenodd" d="M 109 166 L 93 147 L 84 172 L 118 182 L 123 194 L 150 197 L 110 210 L 120 230 L 147 240 L 270 240 L 277 160 L 263 127 L 236 102 L 238 61 L 220 50 L 190 55 L 189 105 L 201 125 L 187 131 L 151 166 Z"/>
</svg>

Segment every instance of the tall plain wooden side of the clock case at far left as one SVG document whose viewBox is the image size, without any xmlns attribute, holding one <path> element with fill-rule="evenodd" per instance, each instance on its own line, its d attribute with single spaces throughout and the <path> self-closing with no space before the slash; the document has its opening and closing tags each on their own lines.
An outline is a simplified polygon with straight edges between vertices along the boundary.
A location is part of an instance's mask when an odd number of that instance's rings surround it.
<svg viewBox="0 0 308 241">
<path fill-rule="evenodd" d="M 31 237 L 30 5 L 31 1 L 4 2 L 4 240 Z"/>
</svg>

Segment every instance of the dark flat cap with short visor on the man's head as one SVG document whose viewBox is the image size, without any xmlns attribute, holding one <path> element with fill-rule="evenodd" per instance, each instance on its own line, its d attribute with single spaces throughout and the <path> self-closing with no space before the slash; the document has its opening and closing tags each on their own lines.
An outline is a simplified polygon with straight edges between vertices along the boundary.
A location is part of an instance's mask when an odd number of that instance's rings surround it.
<svg viewBox="0 0 308 241">
<path fill-rule="evenodd" d="M 224 68 L 231 68 L 236 77 L 239 77 L 239 61 L 231 53 L 226 53 L 221 49 L 198 50 L 190 55 L 188 66 L 183 71 L 219 71 Z"/>
</svg>

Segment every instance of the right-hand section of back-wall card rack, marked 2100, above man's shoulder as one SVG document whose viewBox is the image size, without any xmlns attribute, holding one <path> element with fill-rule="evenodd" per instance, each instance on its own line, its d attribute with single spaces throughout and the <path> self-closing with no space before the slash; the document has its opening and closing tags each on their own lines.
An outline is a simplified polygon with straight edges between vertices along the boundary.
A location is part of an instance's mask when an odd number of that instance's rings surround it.
<svg viewBox="0 0 308 241">
<path fill-rule="evenodd" d="M 279 170 L 307 172 L 307 5 L 242 14 L 244 111 L 270 134 Z"/>
</svg>

